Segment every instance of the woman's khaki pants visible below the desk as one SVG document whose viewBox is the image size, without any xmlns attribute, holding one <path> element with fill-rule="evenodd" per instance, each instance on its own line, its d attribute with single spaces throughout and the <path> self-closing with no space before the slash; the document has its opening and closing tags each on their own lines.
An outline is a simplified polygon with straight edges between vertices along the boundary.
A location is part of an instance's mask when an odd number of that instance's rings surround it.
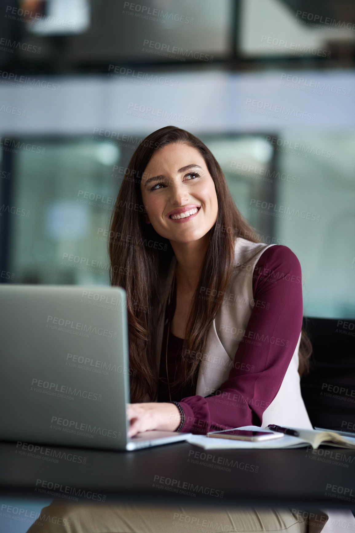
<svg viewBox="0 0 355 533">
<path fill-rule="evenodd" d="M 307 520 L 290 509 L 70 504 L 54 500 L 42 509 L 28 533 L 224 533 L 286 530 L 287 533 L 318 533 L 317 528 L 311 528 Z"/>
</svg>

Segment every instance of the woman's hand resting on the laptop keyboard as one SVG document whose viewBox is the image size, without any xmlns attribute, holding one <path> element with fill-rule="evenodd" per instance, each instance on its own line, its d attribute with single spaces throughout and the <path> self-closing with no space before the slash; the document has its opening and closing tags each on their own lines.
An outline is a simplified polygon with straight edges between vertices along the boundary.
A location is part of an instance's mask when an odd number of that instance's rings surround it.
<svg viewBox="0 0 355 533">
<path fill-rule="evenodd" d="M 175 403 L 127 403 L 128 437 L 142 431 L 175 431 L 181 422 Z"/>
</svg>

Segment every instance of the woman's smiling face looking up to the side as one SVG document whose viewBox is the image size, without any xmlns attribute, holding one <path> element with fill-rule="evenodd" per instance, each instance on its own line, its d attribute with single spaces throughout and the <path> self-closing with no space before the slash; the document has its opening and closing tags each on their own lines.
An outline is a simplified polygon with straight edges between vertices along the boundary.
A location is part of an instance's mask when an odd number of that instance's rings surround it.
<svg viewBox="0 0 355 533">
<path fill-rule="evenodd" d="M 146 222 L 177 243 L 201 239 L 217 220 L 216 188 L 199 150 L 168 144 L 155 152 L 141 181 Z"/>
</svg>

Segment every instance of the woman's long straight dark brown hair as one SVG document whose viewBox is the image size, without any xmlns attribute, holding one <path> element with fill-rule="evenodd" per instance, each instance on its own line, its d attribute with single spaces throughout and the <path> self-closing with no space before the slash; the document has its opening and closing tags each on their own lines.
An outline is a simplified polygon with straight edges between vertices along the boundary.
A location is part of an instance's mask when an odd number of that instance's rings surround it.
<svg viewBox="0 0 355 533">
<path fill-rule="evenodd" d="M 141 402 L 146 395 L 156 399 L 158 348 L 156 327 L 161 319 L 160 289 L 174 251 L 144 219 L 141 179 L 155 150 L 172 143 L 196 148 L 205 160 L 217 193 L 217 221 L 209 230 L 209 243 L 201 277 L 187 319 L 182 372 L 173 385 L 192 383 L 203 357 L 207 334 L 221 308 L 223 298 L 199 297 L 201 288 L 210 294 L 225 294 L 235 271 L 235 239 L 243 237 L 261 243 L 257 231 L 238 211 L 221 167 L 205 144 L 175 126 L 160 128 L 139 144 L 125 169 L 123 182 L 111 215 L 109 233 L 110 284 L 127 293 L 131 401 Z M 252 258 L 251 258 L 252 260 Z M 202 289 L 204 290 L 204 289 Z M 299 373 L 308 368 L 311 344 L 302 328 Z"/>
</svg>

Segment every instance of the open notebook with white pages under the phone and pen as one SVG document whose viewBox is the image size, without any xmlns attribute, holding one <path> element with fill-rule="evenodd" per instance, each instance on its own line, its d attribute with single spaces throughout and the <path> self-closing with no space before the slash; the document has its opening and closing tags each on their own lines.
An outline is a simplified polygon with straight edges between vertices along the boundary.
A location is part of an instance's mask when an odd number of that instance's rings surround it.
<svg viewBox="0 0 355 533">
<path fill-rule="evenodd" d="M 249 431 L 268 431 L 273 433 L 268 427 L 260 428 L 258 426 L 243 426 L 235 427 L 237 430 L 249 430 Z M 339 448 L 353 448 L 355 449 L 355 438 L 343 437 L 333 431 L 317 431 L 317 430 L 304 430 L 298 427 L 290 427 L 292 430 L 299 432 L 299 437 L 293 437 L 292 435 L 284 435 L 282 439 L 266 440 L 262 442 L 251 442 L 234 439 L 221 439 L 206 437 L 206 435 L 192 435 L 186 439 L 190 444 L 200 446 L 205 450 L 213 449 L 234 449 L 234 448 L 259 448 L 259 449 L 273 449 L 273 448 L 303 448 L 306 446 L 312 446 L 313 449 L 317 449 L 320 445 L 324 446 L 336 446 Z"/>
</svg>

